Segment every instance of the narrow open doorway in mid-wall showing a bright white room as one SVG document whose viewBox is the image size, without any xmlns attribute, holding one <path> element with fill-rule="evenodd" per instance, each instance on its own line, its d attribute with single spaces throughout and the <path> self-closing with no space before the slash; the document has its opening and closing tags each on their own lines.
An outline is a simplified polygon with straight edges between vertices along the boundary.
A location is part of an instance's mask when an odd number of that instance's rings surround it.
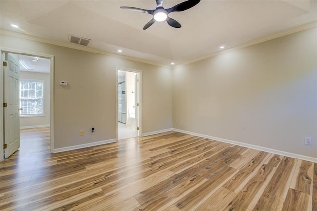
<svg viewBox="0 0 317 211">
<path fill-rule="evenodd" d="M 140 73 L 118 70 L 118 139 L 139 136 Z"/>
</svg>

